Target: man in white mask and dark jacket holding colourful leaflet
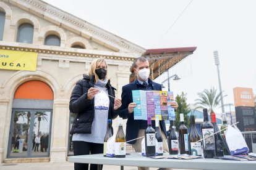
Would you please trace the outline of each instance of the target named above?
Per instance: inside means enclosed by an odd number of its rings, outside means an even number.
[[[121,118],[128,119],[126,123],[126,141],[144,136],[145,129],[147,128],[146,120],[134,119],[134,107],[136,107],[136,103],[133,103],[132,101],[132,91],[161,91],[161,84],[154,83],[153,81],[151,81],[151,79],[149,79],[150,67],[147,59],[145,59],[144,57],[138,57],[137,59],[135,59],[134,72],[137,79],[135,79],[134,82],[122,87],[122,106],[120,107],[119,112],[119,116]],[[171,106],[176,109],[177,102],[172,102]],[[155,128],[155,121],[152,121],[152,126]],[[160,127],[163,137],[164,152],[169,152],[164,121],[160,121]],[[128,142],[128,144],[132,144],[135,152],[141,152],[141,142],[142,138],[132,140]],[[142,170],[149,168],[138,167],[138,169]]]

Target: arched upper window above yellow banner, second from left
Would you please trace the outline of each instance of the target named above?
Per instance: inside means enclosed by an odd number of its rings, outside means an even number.
[[[18,28],[17,42],[33,43],[34,26],[29,23],[23,23]]]

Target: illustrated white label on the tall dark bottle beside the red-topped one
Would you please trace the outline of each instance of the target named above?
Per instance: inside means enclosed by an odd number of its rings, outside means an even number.
[[[205,150],[215,150],[214,135],[212,135],[212,134],[214,134],[213,128],[202,129],[203,149],[205,149]]]

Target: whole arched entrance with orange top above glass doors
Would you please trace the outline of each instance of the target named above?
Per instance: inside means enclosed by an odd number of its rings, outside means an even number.
[[[42,81],[27,81],[18,87],[12,102],[7,158],[49,157],[53,99],[51,87]]]

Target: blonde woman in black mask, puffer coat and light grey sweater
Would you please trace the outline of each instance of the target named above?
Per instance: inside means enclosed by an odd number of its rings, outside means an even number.
[[[114,98],[116,89],[106,77],[107,68],[105,59],[93,60],[89,75],[83,75],[70,97],[69,110],[77,113],[70,131],[74,155],[103,153],[107,120],[116,118],[122,105],[121,99]],[[97,169],[97,166],[90,164],[90,170]],[[74,167],[75,170],[85,170],[88,164],[75,163]]]

